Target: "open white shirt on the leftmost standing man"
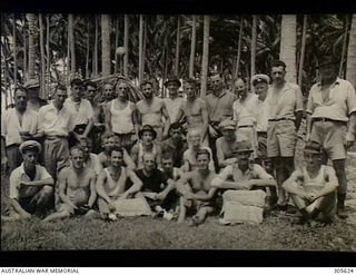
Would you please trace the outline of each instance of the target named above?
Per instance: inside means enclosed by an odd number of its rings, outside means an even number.
[[[29,131],[31,135],[38,131],[38,114],[37,111],[26,109],[22,115],[22,125],[20,125],[16,108],[6,110],[1,115],[1,136],[4,137],[6,146],[19,145],[23,140],[20,131]]]

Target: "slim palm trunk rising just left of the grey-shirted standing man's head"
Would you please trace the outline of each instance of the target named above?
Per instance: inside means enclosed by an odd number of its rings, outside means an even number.
[[[202,97],[202,98],[207,95],[207,88],[208,88],[209,28],[210,28],[210,17],[209,16],[204,16],[202,60],[201,60],[201,90],[200,90],[200,97]]]

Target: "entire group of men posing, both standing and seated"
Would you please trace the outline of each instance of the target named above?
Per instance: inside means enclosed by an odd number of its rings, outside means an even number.
[[[198,97],[198,84],[165,82],[168,98],[158,98],[144,80],[144,99],[128,100],[129,85],[103,86],[73,79],[57,85],[52,100],[38,97],[29,80],[14,89],[14,107],[2,114],[1,164],[10,170],[10,206],[4,220],[44,220],[72,215],[115,220],[119,200],[139,198],[154,216],[201,224],[217,213],[225,189],[263,189],[266,208],[287,210],[293,203],[303,222],[330,222],[336,210],[346,218],[346,150],[355,141],[356,92],[337,77],[336,62],[323,57],[320,80],[306,108],[306,167],[295,169],[297,131],[304,116],[300,87],[285,80],[286,65],[267,75],[234,81],[224,88],[210,76],[210,92]],[[116,95],[116,96],[115,96]],[[326,166],[327,160],[333,167]],[[55,207],[55,212],[51,208]],[[48,215],[49,214],[49,215]]]

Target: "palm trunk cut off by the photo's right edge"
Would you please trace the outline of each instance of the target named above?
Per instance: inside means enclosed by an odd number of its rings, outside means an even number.
[[[353,14],[347,49],[346,79],[356,87],[356,14]]]

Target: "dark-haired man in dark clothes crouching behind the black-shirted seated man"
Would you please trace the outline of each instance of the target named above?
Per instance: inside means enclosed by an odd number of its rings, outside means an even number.
[[[182,155],[188,149],[187,141],[184,140],[181,126],[174,122],[169,127],[169,138],[162,141],[162,154],[169,151],[172,154],[174,167],[182,166]]]

